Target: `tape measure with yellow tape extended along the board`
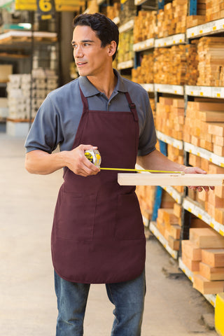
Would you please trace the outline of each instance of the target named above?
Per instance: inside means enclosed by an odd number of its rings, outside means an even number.
[[[85,151],[85,157],[92,162],[93,165],[98,167],[100,170],[113,170],[120,172],[149,172],[149,173],[174,173],[184,175],[184,172],[174,172],[167,170],[152,170],[152,169],[131,169],[131,168],[102,168],[101,165],[101,155],[97,149],[89,149]]]

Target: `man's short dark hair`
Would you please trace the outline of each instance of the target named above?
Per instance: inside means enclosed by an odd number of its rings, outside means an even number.
[[[76,28],[76,26],[92,28],[100,39],[102,47],[106,47],[111,41],[116,41],[117,48],[113,54],[113,59],[115,59],[118,50],[119,31],[118,26],[111,19],[101,13],[80,14],[73,19],[73,27]]]

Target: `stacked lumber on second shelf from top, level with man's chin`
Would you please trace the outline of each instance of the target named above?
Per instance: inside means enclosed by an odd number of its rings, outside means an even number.
[[[197,44],[173,45],[154,50],[154,82],[171,85],[196,85]]]

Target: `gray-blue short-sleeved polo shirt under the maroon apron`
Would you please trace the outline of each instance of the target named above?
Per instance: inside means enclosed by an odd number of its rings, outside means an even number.
[[[116,70],[114,72],[118,82],[110,99],[99,92],[86,77],[81,76],[50,92],[38,109],[27,136],[25,143],[27,152],[40,149],[52,153],[57,145],[60,151],[71,150],[83,113],[79,85],[87,97],[90,110],[111,111],[111,113],[130,111],[124,93],[129,92],[139,116],[139,155],[154,151],[157,140],[148,93],[141,85],[121,77]],[[97,146],[97,144],[91,145]]]

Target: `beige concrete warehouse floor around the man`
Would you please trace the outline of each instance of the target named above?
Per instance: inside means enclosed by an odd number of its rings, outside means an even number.
[[[0,133],[0,335],[53,336],[50,231],[62,172],[28,174],[24,140]],[[146,278],[142,336],[217,335],[208,328],[214,308],[155,237],[147,241]],[[91,286],[85,336],[109,336],[112,311],[104,285]]]

